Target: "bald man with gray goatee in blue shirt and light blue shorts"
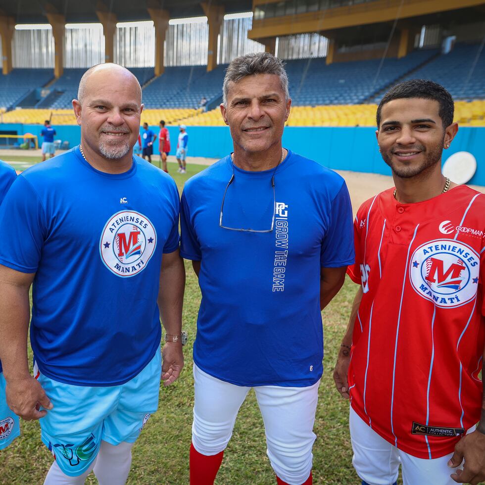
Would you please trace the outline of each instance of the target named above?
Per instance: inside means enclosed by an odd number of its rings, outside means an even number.
[[[19,175],[0,207],[0,237],[14,226],[0,247],[6,397],[40,419],[55,455],[46,485],[84,483],[93,469],[101,484],[124,484],[160,374],[169,385],[184,365],[179,196],[169,175],[133,157],[141,102],[124,67],[89,69],[73,101],[81,144]]]

